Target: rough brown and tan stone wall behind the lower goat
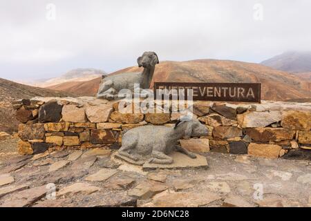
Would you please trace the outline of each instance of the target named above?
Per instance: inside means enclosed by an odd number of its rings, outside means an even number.
[[[180,113],[122,114],[118,102],[94,97],[35,97],[15,101],[13,106],[22,123],[20,154],[100,146],[117,149],[122,133],[130,128],[173,126],[180,117]],[[194,117],[207,126],[209,135],[180,140],[190,151],[276,158],[292,149],[311,148],[310,103],[194,102],[193,111]]]

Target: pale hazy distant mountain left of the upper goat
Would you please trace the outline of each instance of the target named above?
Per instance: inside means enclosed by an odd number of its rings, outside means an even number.
[[[103,70],[98,70],[95,68],[77,68],[77,69],[68,71],[64,75],[61,75],[60,77],[54,77],[50,79],[39,79],[39,80],[28,82],[28,83],[20,81],[20,83],[30,84],[31,86],[38,86],[41,88],[48,88],[50,86],[54,86],[54,85],[62,84],[66,82],[90,81],[91,79],[102,77],[102,75],[106,75],[106,73]]]

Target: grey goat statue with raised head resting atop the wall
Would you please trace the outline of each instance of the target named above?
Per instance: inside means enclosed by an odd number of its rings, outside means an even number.
[[[156,64],[159,64],[158,55],[155,52],[144,52],[137,59],[138,67],[144,67],[142,73],[120,73],[104,77],[100,82],[97,98],[117,99],[122,89],[134,91],[134,84],[140,84],[140,88],[149,89]]]

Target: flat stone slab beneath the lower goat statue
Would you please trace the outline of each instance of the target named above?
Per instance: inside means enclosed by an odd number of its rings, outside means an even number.
[[[145,162],[142,165],[144,171],[153,171],[156,169],[207,169],[208,164],[206,157],[196,154],[196,159],[192,159],[187,155],[179,152],[173,152],[173,164],[150,164]]]

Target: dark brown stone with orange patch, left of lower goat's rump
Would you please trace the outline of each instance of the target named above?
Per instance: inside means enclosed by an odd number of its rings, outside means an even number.
[[[113,131],[93,129],[90,141],[92,144],[113,144],[117,142],[117,137]]]

